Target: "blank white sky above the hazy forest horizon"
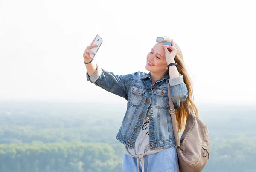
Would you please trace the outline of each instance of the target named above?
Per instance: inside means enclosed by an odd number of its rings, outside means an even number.
[[[255,103],[253,1],[0,0],[0,99],[125,101],[86,79],[83,52],[116,75],[145,69],[158,36],[180,46],[195,102]]]

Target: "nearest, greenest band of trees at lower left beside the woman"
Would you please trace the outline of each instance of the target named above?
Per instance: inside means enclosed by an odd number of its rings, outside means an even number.
[[[120,172],[121,145],[40,143],[0,145],[0,172]]]

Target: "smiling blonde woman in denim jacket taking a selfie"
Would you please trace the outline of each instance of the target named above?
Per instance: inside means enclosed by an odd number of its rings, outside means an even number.
[[[99,68],[89,55],[94,54],[90,49],[96,47],[92,44],[83,54],[87,80],[127,100],[116,136],[125,145],[122,172],[179,172],[168,84],[179,132],[187,116],[183,102],[197,112],[180,48],[169,37],[157,37],[156,41],[146,58],[148,74],[139,71],[115,75]]]

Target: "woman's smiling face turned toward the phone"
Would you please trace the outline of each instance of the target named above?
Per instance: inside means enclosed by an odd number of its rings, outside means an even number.
[[[151,73],[162,75],[168,70],[163,43],[156,43],[147,55],[146,69]]]

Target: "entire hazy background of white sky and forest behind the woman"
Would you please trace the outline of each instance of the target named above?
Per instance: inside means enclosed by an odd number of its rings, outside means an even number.
[[[87,81],[82,55],[96,34],[103,43],[95,61],[116,75],[148,72],[155,39],[173,38],[209,127],[205,171],[254,171],[255,6],[0,0],[0,172],[120,171],[124,147],[115,136],[126,100]]]

